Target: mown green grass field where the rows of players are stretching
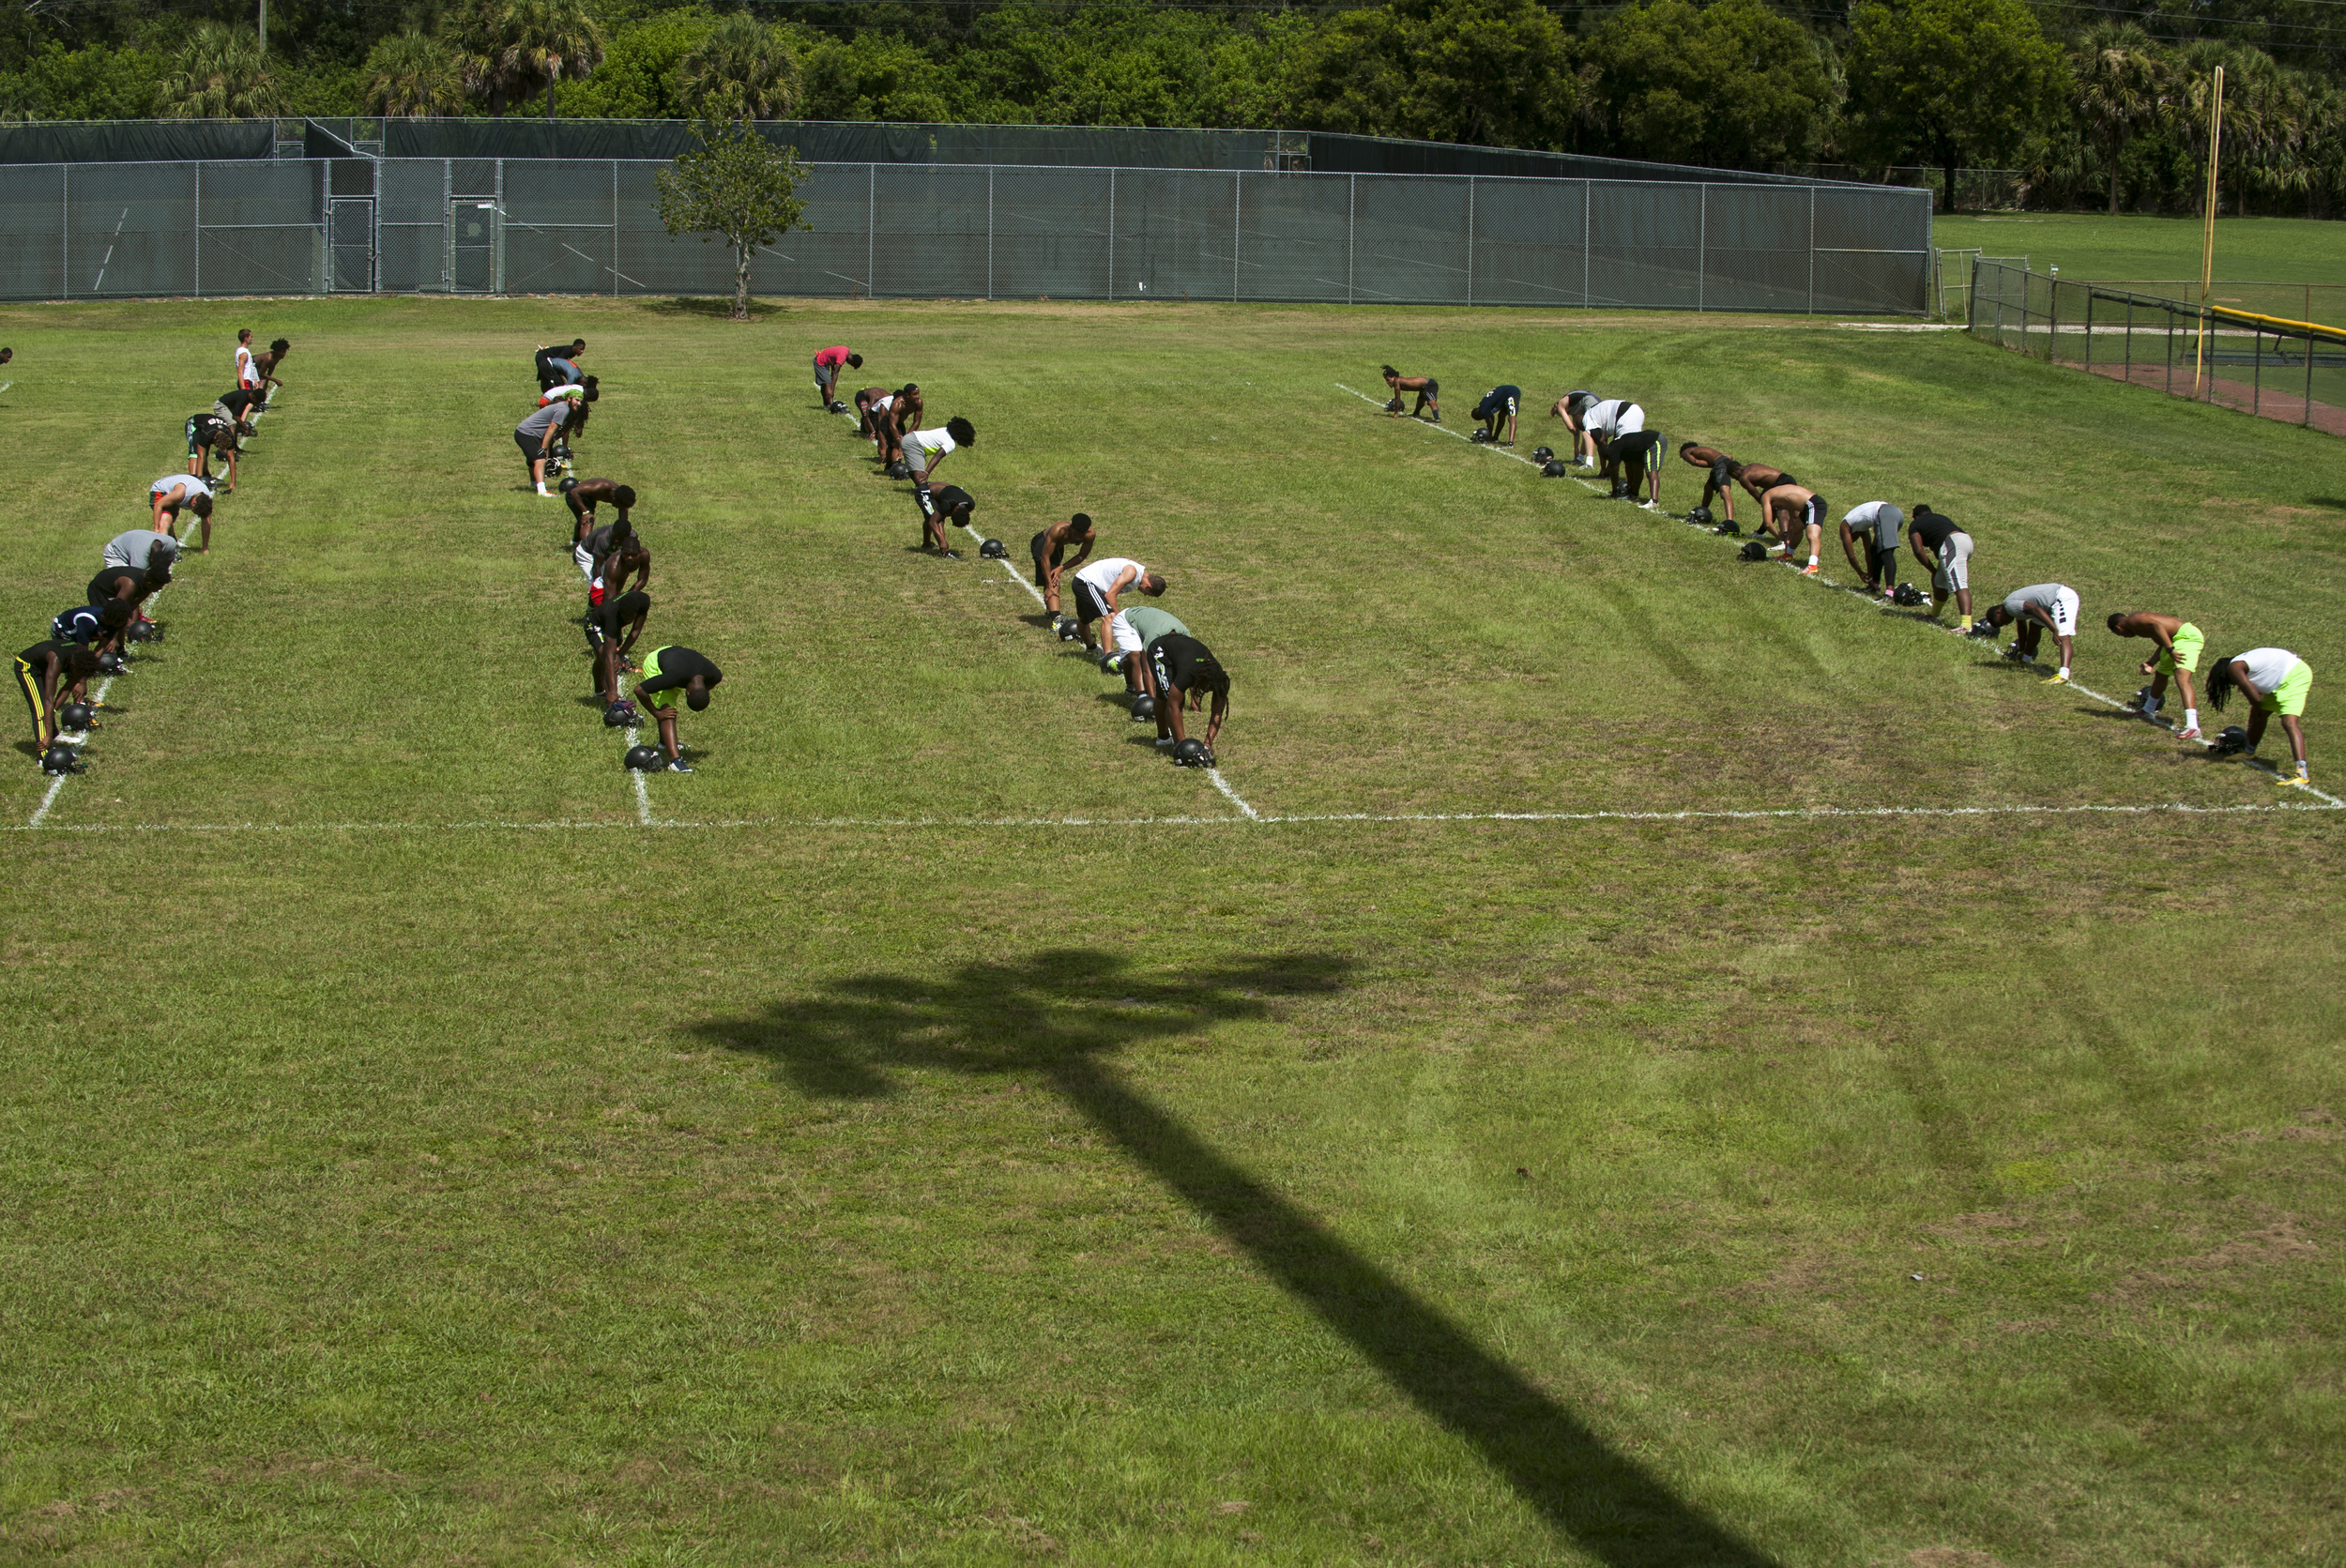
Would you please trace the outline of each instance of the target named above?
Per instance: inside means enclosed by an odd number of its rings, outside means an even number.
[[[2111,608],[2290,646],[2323,786],[2327,437],[1741,317],[14,307],[21,641],[239,324],[291,392],[5,840],[0,1556],[2346,1561],[2346,815],[1342,385],[1931,500],[2093,692]],[[727,676],[643,807],[507,437],[572,331]],[[842,340],[1173,580],[1234,798],[910,549]]]

